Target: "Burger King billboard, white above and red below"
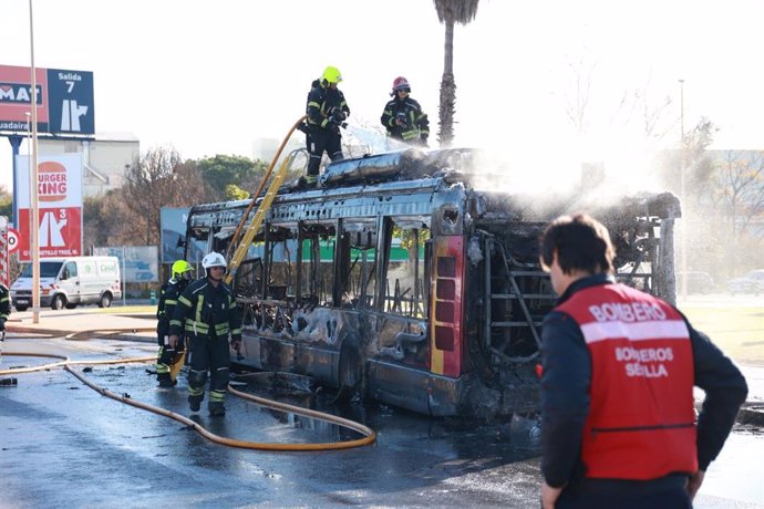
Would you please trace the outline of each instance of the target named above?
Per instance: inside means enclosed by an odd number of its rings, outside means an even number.
[[[28,156],[17,156],[19,261],[31,261]],[[82,156],[65,154],[38,159],[38,228],[40,257],[82,254]]]

